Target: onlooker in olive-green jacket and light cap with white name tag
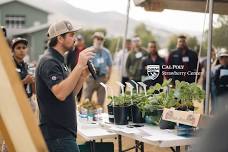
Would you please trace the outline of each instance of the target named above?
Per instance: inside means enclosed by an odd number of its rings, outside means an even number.
[[[135,36],[132,39],[132,52],[128,55],[126,61],[126,70],[130,80],[141,81],[141,63],[142,58],[148,55],[148,52],[141,47],[141,39]],[[131,82],[131,81],[130,81]],[[134,83],[132,83],[135,86]]]

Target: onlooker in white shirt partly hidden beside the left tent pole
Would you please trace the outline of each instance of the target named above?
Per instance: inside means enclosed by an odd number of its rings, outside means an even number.
[[[120,50],[116,56],[117,67],[118,67],[118,70],[121,72],[121,83],[124,85],[126,82],[129,81],[127,70],[126,70],[126,61],[131,50],[132,50],[131,39],[127,39],[125,41],[125,48]],[[125,90],[126,90],[126,87],[124,87],[124,91]]]

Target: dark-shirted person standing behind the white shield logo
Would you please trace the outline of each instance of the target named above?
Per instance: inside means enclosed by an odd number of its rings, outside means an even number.
[[[150,41],[147,49],[149,55],[142,61],[141,75],[142,82],[149,88],[156,83],[163,83],[162,66],[165,64],[165,60],[158,54],[156,41]]]

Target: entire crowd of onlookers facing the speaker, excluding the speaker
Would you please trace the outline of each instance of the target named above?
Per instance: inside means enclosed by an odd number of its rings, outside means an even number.
[[[6,29],[2,27],[2,30],[5,37],[7,37]],[[206,58],[202,60],[198,58],[197,52],[188,47],[187,37],[184,35],[180,35],[177,38],[176,48],[170,50],[168,58],[159,55],[156,41],[149,41],[147,48],[144,48],[141,46],[140,37],[134,36],[132,39],[126,39],[124,49],[114,55],[114,61],[112,61],[110,51],[104,47],[104,33],[95,32],[92,40],[92,46],[86,46],[83,35],[77,34],[73,48],[64,54],[64,63],[70,71],[73,71],[78,63],[81,51],[88,47],[95,50],[95,57],[91,61],[96,69],[98,79],[94,80],[92,76],[88,77],[86,85],[77,94],[78,101],[81,100],[82,95],[84,99],[92,100],[94,92],[97,92],[97,102],[102,106],[104,105],[105,90],[100,85],[100,82],[107,83],[109,81],[113,64],[117,66],[121,75],[120,81],[124,85],[126,85],[126,82],[130,82],[135,87],[133,82],[143,82],[148,89],[156,83],[162,84],[164,79],[171,78],[173,84],[175,84],[176,80],[189,83],[198,83],[200,80],[202,88],[206,90],[207,60]],[[16,37],[11,42],[8,40],[8,42],[12,49],[16,70],[20,74],[28,98],[31,100],[32,94],[35,93],[35,75],[29,73],[28,63],[24,61],[28,52],[28,41],[24,38]],[[212,113],[217,107],[215,103],[218,103],[216,102],[218,96],[221,96],[223,92],[227,93],[228,90],[226,88],[228,84],[227,56],[228,53],[225,48],[218,50],[212,48],[211,50],[212,71],[210,86],[212,90]],[[124,91],[125,89],[126,87]]]

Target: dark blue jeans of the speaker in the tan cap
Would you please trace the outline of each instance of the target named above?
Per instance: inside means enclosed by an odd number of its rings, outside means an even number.
[[[49,152],[80,152],[74,137],[46,141]]]

